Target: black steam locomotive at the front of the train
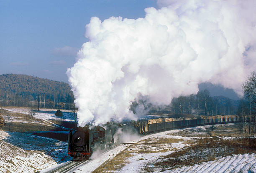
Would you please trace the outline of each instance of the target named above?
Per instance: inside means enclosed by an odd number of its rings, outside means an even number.
[[[105,150],[114,143],[114,133],[118,126],[107,125],[107,129],[96,126],[78,127],[68,135],[68,154],[73,160],[87,160],[93,150]]]

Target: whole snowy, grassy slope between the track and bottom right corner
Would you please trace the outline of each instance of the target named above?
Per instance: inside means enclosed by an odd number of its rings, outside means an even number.
[[[255,172],[256,138],[239,124],[189,127],[141,137],[98,172]],[[239,164],[238,164],[239,163]]]

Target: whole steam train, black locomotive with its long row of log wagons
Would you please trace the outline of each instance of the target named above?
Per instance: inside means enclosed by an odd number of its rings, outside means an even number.
[[[224,123],[239,122],[237,115],[226,116],[201,116],[195,119],[180,120],[163,119],[163,122],[139,121],[137,125],[123,125],[108,123],[105,128],[96,126],[78,127],[77,130],[71,130],[68,135],[68,154],[73,160],[87,160],[93,153],[93,150],[105,150],[113,145],[114,135],[118,129],[128,132],[133,129],[138,134],[146,135],[148,133],[160,132],[165,130],[180,129],[185,127],[195,127],[201,125],[215,125]]]

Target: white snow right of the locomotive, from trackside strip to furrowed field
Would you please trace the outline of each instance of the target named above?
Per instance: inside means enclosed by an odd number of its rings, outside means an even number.
[[[225,125],[217,125],[225,126]],[[140,137],[136,145],[119,145],[118,148],[113,148],[100,155],[99,157],[93,158],[88,163],[82,165],[79,168],[71,170],[72,172],[82,173],[82,172],[92,172],[98,166],[102,166],[106,160],[115,159],[115,155],[120,152],[130,152],[131,157],[128,157],[128,163],[123,166],[120,170],[111,170],[120,173],[138,173],[143,172],[148,164],[155,162],[158,158],[164,155],[168,155],[176,150],[183,148],[186,145],[190,145],[189,141],[193,140],[195,137],[178,136],[180,132],[188,133],[190,135],[200,135],[205,133],[207,128],[210,126],[200,126],[200,127],[190,127],[179,130],[170,130],[165,132],[159,132],[156,134],[146,135]],[[170,139],[179,142],[173,142],[170,144],[157,144],[159,140]],[[148,143],[156,145],[147,145]],[[145,144],[145,145],[144,145]],[[125,150],[127,149],[127,150]],[[125,151],[124,151],[125,150]],[[148,151],[148,152],[147,152]],[[108,161],[107,161],[108,162]],[[108,167],[108,163],[105,163],[105,167]],[[156,170],[156,172],[162,171],[161,169]],[[184,166],[179,169],[166,170],[165,172],[200,172],[200,173],[211,173],[211,172],[256,172],[256,158],[254,154],[243,154],[243,155],[232,155],[227,157],[220,157],[214,161],[209,161],[205,163],[196,164],[193,166]]]

